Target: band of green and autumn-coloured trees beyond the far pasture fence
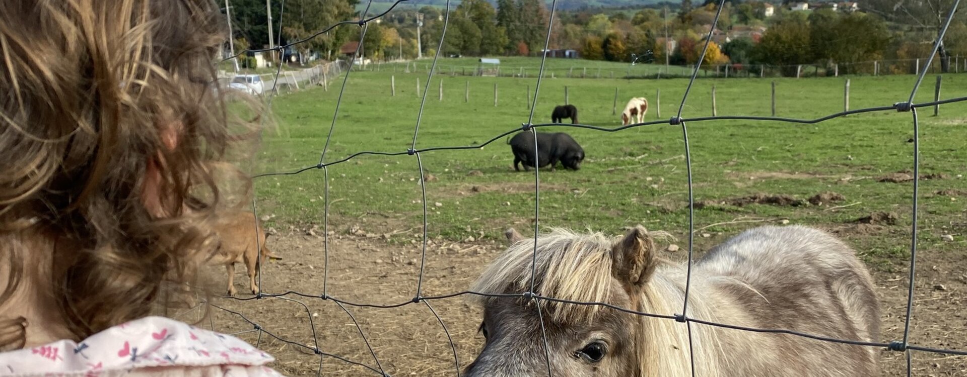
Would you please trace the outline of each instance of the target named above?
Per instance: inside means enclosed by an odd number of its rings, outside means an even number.
[[[282,24],[278,38],[283,43],[359,16],[358,0],[288,0],[284,12],[280,0],[272,1],[273,12],[278,10],[273,19]],[[268,40],[265,2],[230,3],[236,48],[264,46]],[[846,7],[834,10],[835,3],[820,4],[823,8],[817,10],[790,11],[788,6],[759,1],[727,1],[702,62],[698,62],[702,46],[719,12],[715,1],[693,5],[684,0],[650,9],[558,11],[548,41],[551,49],[575,50],[584,59],[630,62],[635,54],[657,63],[737,68],[923,58],[929,55],[952,0],[937,0],[929,8],[921,3],[897,6],[872,0],[856,12],[842,9]],[[767,12],[770,5],[772,14]],[[439,47],[444,56],[538,56],[549,15],[542,0],[464,0],[449,18],[440,7],[401,7],[368,25],[362,53],[373,59],[412,59],[431,56]],[[961,13],[955,16],[942,58],[967,53],[967,25]],[[446,38],[440,46],[445,22]],[[321,59],[335,60],[344,43],[358,39],[358,28],[339,27],[296,49],[304,56],[317,53]],[[850,69],[861,67],[841,69],[851,73]]]

